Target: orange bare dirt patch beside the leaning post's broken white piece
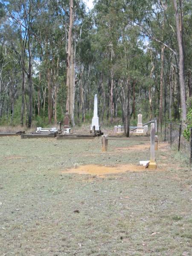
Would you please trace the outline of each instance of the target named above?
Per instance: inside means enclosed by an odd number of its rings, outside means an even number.
[[[98,177],[105,177],[108,174],[118,174],[123,172],[143,172],[143,166],[136,165],[118,165],[118,166],[100,166],[100,165],[84,165],[77,168],[66,169],[62,173],[77,173],[80,175],[96,175]]]

